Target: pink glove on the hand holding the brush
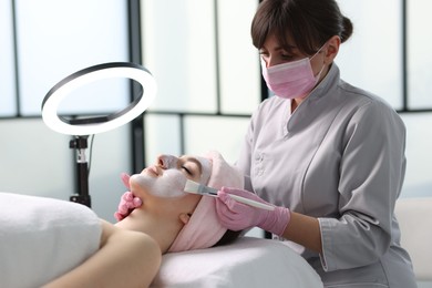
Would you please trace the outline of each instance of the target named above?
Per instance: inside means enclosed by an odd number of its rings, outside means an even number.
[[[243,189],[222,187],[222,189],[217,193],[219,197],[216,200],[216,212],[222,225],[224,225],[227,229],[243,230],[251,227],[259,227],[278,236],[284,234],[285,228],[291,218],[291,213],[288,208],[275,206],[274,210],[265,210],[236,202],[229,197],[228,194],[238,195],[274,206],[259,198],[254,193]]]

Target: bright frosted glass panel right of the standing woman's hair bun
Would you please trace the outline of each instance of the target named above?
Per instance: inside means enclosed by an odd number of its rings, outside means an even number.
[[[354,32],[340,47],[341,78],[402,107],[401,0],[339,0]]]

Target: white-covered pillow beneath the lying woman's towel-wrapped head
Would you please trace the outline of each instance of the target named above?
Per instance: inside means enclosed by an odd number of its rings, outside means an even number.
[[[163,256],[151,287],[322,287],[318,274],[277,240],[244,237],[235,244]]]

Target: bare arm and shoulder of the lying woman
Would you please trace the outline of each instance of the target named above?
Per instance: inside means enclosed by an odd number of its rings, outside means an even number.
[[[148,287],[161,265],[161,249],[150,236],[102,220],[101,248],[54,287]]]

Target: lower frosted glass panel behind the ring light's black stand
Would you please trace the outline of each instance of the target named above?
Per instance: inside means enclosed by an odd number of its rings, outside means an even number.
[[[0,133],[1,192],[64,200],[76,193],[75,160],[69,148],[69,136],[51,131],[41,119],[2,120]],[[120,174],[130,173],[131,167],[128,138],[130,127],[124,125],[97,134],[92,148],[89,177],[92,209],[113,223],[119,199],[126,191]]]

